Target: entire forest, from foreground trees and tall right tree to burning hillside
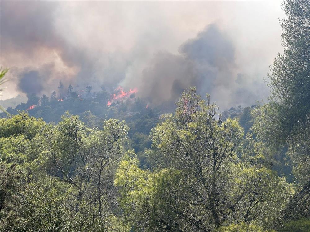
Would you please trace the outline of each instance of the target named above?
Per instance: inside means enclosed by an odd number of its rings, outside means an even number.
[[[60,80],[2,109],[0,231],[310,231],[310,3],[282,8],[267,103],[189,87],[171,110]]]

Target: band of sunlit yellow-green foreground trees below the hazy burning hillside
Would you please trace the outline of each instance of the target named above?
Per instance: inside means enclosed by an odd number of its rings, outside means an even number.
[[[251,134],[245,137],[237,119],[221,117],[195,88],[184,91],[175,114],[162,115],[151,131],[149,169],[141,168],[134,150],[128,150],[124,121],[109,119],[102,128],[91,129],[69,114],[55,126],[27,113],[0,119],[0,228],[309,228],[304,219],[308,198],[288,210],[309,178],[303,175],[309,166],[294,166],[298,184],[288,183],[272,170],[271,148]]]

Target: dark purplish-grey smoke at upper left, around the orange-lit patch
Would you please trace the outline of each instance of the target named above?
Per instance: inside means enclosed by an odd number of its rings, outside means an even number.
[[[124,74],[113,69],[113,62],[110,63],[110,70],[99,73],[102,69],[98,64],[98,57],[103,54],[86,54],[83,49],[71,45],[58,34],[55,28],[55,12],[59,10],[58,7],[59,5],[52,1],[1,1],[0,47],[3,56],[19,53],[27,58],[34,58],[38,53],[47,57],[56,53],[66,67],[75,67],[78,70],[74,76],[68,76],[56,69],[55,61],[36,67],[36,70],[29,66],[25,69],[33,71],[20,69],[20,73],[15,77],[16,87],[26,94],[50,93],[57,89],[59,79],[65,85],[93,85],[95,89],[99,89],[102,84],[115,86],[124,78]],[[112,78],[106,78],[104,82],[104,74]]]

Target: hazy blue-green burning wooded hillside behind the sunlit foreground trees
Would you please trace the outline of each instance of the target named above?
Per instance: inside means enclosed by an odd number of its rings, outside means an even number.
[[[170,107],[164,104],[149,106],[147,101],[136,97],[135,94],[111,101],[113,92],[108,92],[104,87],[99,92],[92,92],[91,86],[87,86],[85,90],[75,90],[72,85],[65,88],[60,81],[58,90],[58,93],[52,92],[50,97],[46,95],[38,97],[32,94],[26,103],[20,103],[14,109],[7,107],[6,110],[11,115],[25,111],[30,116],[42,118],[51,125],[56,125],[66,112],[78,115],[89,128],[101,128],[104,121],[109,118],[125,120],[130,127],[128,148],[134,149],[138,154],[142,167],[149,167],[144,153],[145,149],[151,147],[149,133],[158,122],[160,115],[171,112]],[[112,102],[110,105],[108,105],[109,101]],[[223,112],[223,118],[240,118],[240,125],[247,132],[252,125],[250,112],[254,107],[255,105],[246,108],[231,107]],[[3,112],[1,117],[7,118],[7,114]],[[279,173],[281,172],[279,168]]]

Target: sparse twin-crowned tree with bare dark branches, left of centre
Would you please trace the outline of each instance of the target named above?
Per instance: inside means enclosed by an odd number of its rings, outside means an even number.
[[[113,177],[127,131],[126,124],[115,119],[104,122],[103,130],[92,130],[78,116],[65,115],[55,128],[44,132],[46,170],[72,187],[75,210],[80,211],[83,202],[91,202],[88,204],[95,207],[100,220],[113,217],[117,210]]]

